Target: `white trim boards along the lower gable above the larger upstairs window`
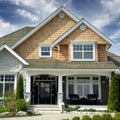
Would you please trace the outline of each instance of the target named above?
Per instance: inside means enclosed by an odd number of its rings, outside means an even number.
[[[78,28],[81,24],[85,24],[87,27],[89,27],[91,30],[93,30],[97,35],[99,35],[101,38],[103,38],[106,42],[109,44],[114,44],[114,42],[106,37],[103,33],[101,33],[97,28],[95,28],[92,24],[90,24],[87,20],[82,18],[78,23],[76,23],[73,27],[71,27],[66,33],[61,35],[57,40],[55,40],[51,46],[55,46],[59,42],[61,42],[65,37],[67,37],[70,33],[72,33],[76,28]]]

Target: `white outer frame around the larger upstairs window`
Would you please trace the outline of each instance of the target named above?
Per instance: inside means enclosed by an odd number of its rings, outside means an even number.
[[[71,61],[95,61],[95,42],[71,42]],[[74,59],[73,58],[73,45],[93,45],[93,59]],[[83,52],[83,51],[82,51]]]

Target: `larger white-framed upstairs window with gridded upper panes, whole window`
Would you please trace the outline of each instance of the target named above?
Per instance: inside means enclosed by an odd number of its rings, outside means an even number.
[[[72,43],[72,60],[73,61],[94,61],[95,60],[95,43]]]

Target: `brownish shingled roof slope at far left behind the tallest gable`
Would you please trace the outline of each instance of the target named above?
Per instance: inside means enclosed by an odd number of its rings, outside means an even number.
[[[2,38],[0,38],[0,46],[6,44],[7,46],[11,47],[14,45],[18,40],[28,34],[34,27],[24,27],[15,32],[12,32]]]

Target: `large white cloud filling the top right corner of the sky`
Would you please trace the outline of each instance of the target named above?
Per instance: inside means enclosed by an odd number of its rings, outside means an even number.
[[[120,0],[101,0],[101,5],[101,12],[92,21],[99,29],[110,25],[120,17]]]

